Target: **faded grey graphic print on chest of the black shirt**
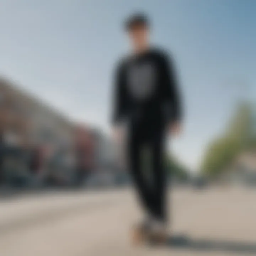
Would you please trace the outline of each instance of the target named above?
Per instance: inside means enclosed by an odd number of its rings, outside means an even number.
[[[131,64],[128,68],[128,90],[139,100],[149,98],[155,89],[156,70],[151,63]]]

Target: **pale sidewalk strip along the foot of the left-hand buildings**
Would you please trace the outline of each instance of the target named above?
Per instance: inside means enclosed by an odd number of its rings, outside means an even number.
[[[81,209],[118,203],[118,190],[106,191],[44,191],[0,201],[1,233],[20,226],[56,218]]]

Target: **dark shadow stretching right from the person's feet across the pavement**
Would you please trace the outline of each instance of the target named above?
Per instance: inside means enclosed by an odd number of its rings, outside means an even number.
[[[256,242],[233,242],[218,240],[192,240],[186,236],[175,236],[169,239],[168,246],[172,249],[190,250],[198,252],[229,252],[240,255],[256,255]]]

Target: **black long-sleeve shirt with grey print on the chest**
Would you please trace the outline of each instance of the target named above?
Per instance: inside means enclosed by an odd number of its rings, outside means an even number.
[[[171,58],[161,50],[128,57],[118,65],[114,79],[114,124],[165,123],[181,119],[178,82]]]

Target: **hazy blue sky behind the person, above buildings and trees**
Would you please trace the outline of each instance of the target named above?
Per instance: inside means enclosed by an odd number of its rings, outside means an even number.
[[[108,130],[113,65],[129,50],[122,21],[133,11],[152,18],[153,43],[175,57],[185,121],[170,145],[196,169],[235,100],[256,95],[254,0],[0,0],[0,73]]]

